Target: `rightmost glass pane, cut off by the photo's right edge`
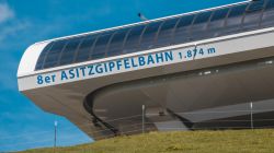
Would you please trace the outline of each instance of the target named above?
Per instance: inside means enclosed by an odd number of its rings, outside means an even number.
[[[269,27],[274,25],[274,0],[270,0],[262,17],[262,26]]]

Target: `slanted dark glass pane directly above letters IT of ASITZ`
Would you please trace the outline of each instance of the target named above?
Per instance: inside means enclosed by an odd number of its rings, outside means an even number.
[[[81,62],[81,61],[87,61],[89,60],[89,56],[90,56],[90,50],[95,42],[98,35],[90,35],[87,36],[82,43],[80,44],[80,47],[77,51],[77,56],[76,56],[76,62]]]

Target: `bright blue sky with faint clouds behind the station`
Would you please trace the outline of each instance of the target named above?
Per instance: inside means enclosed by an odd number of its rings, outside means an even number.
[[[92,142],[66,118],[18,92],[16,70],[35,42],[206,9],[239,0],[0,0],[0,152]]]

